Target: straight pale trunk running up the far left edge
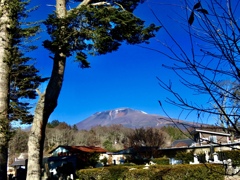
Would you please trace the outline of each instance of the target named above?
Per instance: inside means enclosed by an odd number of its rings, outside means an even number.
[[[8,0],[1,0],[0,5],[0,180],[7,179],[8,159],[8,103],[9,103],[9,63],[7,47],[9,46]]]

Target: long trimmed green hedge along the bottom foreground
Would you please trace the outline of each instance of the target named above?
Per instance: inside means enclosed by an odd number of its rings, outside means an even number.
[[[80,180],[223,180],[222,165],[153,165],[145,166],[110,166],[95,169],[83,169],[77,172]]]

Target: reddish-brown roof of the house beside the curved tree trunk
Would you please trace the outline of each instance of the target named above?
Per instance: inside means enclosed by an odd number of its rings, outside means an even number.
[[[58,148],[66,149],[69,153],[80,153],[80,152],[87,152],[87,153],[106,153],[107,150],[101,148],[101,147],[95,147],[95,146],[58,146],[54,148],[52,151],[49,152],[49,154],[56,151]]]

